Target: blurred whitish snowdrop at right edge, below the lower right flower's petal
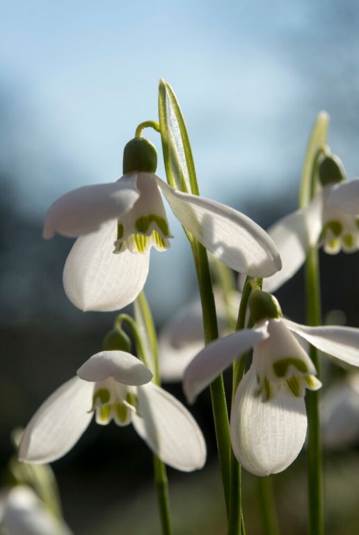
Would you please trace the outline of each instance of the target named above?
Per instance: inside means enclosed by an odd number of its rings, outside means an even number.
[[[335,382],[321,398],[321,437],[328,450],[344,450],[358,444],[358,372]]]

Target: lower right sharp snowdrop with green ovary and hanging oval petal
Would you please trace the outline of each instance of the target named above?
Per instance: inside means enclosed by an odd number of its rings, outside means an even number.
[[[219,373],[253,348],[253,362],[234,397],[230,435],[234,455],[258,476],[287,468],[301,451],[307,430],[305,389],[321,383],[298,335],[323,352],[359,366],[359,329],[308,327],[282,317],[276,299],[256,290],[250,296],[253,329],[207,345],[186,369],[184,392],[195,400]],[[294,333],[294,334],[293,334]]]

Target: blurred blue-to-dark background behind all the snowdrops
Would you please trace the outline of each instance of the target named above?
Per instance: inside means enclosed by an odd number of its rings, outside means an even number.
[[[61,273],[72,243],[42,241],[49,205],[71,188],[118,179],[136,126],[157,120],[159,77],[182,106],[202,195],[263,227],[296,208],[305,145],[320,110],[331,117],[332,150],[348,178],[357,176],[358,27],[354,0],[1,3],[2,472],[13,452],[11,430],[26,425],[101,348],[115,317],[83,314],[67,301]],[[148,137],[160,151],[159,136]],[[189,246],[169,218],[172,248],[152,252],[145,288],[159,329],[196,293]],[[324,315],[339,309],[346,324],[359,326],[358,253],[323,257],[321,266]],[[304,320],[302,285],[298,273],[278,292],[283,311],[297,321]],[[180,386],[168,388],[184,400]],[[169,470],[177,534],[189,533],[189,525],[220,534],[209,396],[191,411],[209,460],[200,473]],[[159,533],[150,460],[131,428],[92,425],[54,464],[74,533]],[[284,533],[289,526],[293,534],[305,530],[304,467],[299,458],[274,478]],[[328,454],[326,469],[328,533],[355,534],[358,446]],[[259,534],[255,479],[246,476],[245,485],[248,533]]]

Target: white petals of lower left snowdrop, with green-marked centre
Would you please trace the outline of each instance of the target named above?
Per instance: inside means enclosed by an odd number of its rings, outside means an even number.
[[[77,377],[65,382],[41,405],[27,425],[19,460],[54,461],[69,451],[93,415],[106,425],[133,423],[138,435],[166,464],[184,472],[201,468],[206,448],[193,417],[159,386],[135,356],[104,351],[88,359]]]

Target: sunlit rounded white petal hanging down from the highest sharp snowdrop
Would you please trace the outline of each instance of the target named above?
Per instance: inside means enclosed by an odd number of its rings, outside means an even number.
[[[75,241],[63,269],[63,286],[70,301],[83,311],[120,310],[143,289],[150,262],[149,253],[128,250],[113,254],[117,221]]]

